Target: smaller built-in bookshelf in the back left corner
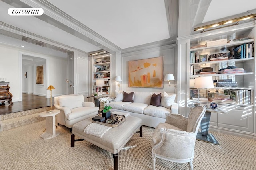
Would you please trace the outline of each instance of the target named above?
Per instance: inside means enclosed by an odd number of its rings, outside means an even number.
[[[104,86],[102,88],[102,95],[110,96],[110,54],[98,55],[92,58],[92,73],[93,73],[93,93],[100,91],[96,86],[97,79],[104,80]]]

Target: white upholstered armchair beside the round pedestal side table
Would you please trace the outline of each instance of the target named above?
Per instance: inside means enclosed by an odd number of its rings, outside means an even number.
[[[57,123],[70,128],[70,131],[75,123],[95,116],[99,110],[93,102],[84,102],[82,94],[54,97],[54,106],[55,109],[60,110],[57,114]]]

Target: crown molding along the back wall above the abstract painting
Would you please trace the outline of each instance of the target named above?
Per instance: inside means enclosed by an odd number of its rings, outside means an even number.
[[[126,49],[122,49],[122,55],[126,54],[126,53],[131,53],[131,52],[136,52],[136,51],[143,51],[143,50],[147,50],[147,49],[151,49],[151,48],[155,48],[155,47],[162,47],[164,45],[174,45],[176,44],[176,39],[177,37],[172,37],[169,39],[164,39],[164,40],[160,40],[160,41],[156,41],[156,42],[152,42],[152,43],[147,43],[147,44],[143,44],[143,45],[138,45],[135,47],[129,47]]]

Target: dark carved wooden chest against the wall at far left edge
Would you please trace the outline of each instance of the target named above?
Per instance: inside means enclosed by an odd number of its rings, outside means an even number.
[[[0,82],[0,105],[5,105],[5,101],[8,101],[9,104],[13,104],[12,94],[9,92],[9,89],[9,82]]]

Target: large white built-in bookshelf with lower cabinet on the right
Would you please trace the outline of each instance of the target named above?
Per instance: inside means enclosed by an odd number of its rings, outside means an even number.
[[[188,103],[216,102],[226,114],[212,113],[212,129],[249,136],[255,133],[255,23],[190,36]],[[212,43],[209,43],[212,42]],[[198,76],[212,76],[213,89],[193,87]],[[199,95],[199,96],[198,96]],[[253,137],[252,137],[253,138]]]

